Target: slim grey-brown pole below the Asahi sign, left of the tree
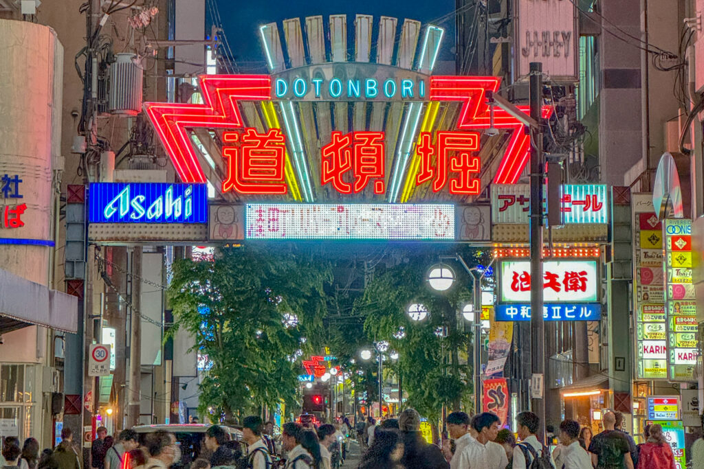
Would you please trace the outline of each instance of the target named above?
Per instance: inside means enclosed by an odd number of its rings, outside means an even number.
[[[142,246],[132,248],[132,307],[130,315],[130,396],[127,405],[127,426],[139,425],[139,403],[142,401]]]

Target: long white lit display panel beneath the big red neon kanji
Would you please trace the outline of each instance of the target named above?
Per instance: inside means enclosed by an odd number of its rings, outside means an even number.
[[[451,204],[247,204],[245,238],[455,239]]]

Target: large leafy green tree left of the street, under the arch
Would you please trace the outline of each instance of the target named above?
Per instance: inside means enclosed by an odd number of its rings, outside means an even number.
[[[329,266],[306,250],[270,248],[222,249],[212,262],[172,268],[171,333],[187,330],[212,361],[199,411],[216,420],[295,405],[301,356],[321,345]]]

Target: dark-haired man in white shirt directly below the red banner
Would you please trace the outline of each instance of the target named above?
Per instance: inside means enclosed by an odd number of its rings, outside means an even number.
[[[503,447],[494,443],[501,420],[491,412],[480,413],[472,419],[477,438],[469,436],[467,445],[461,452],[455,452],[452,462],[461,469],[505,469],[508,458]]]

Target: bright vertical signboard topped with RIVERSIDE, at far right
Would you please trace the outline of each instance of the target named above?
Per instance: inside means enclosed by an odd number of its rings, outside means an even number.
[[[692,221],[667,219],[665,233],[665,314],[667,316],[667,378],[696,381],[699,356],[697,304],[692,283]]]

